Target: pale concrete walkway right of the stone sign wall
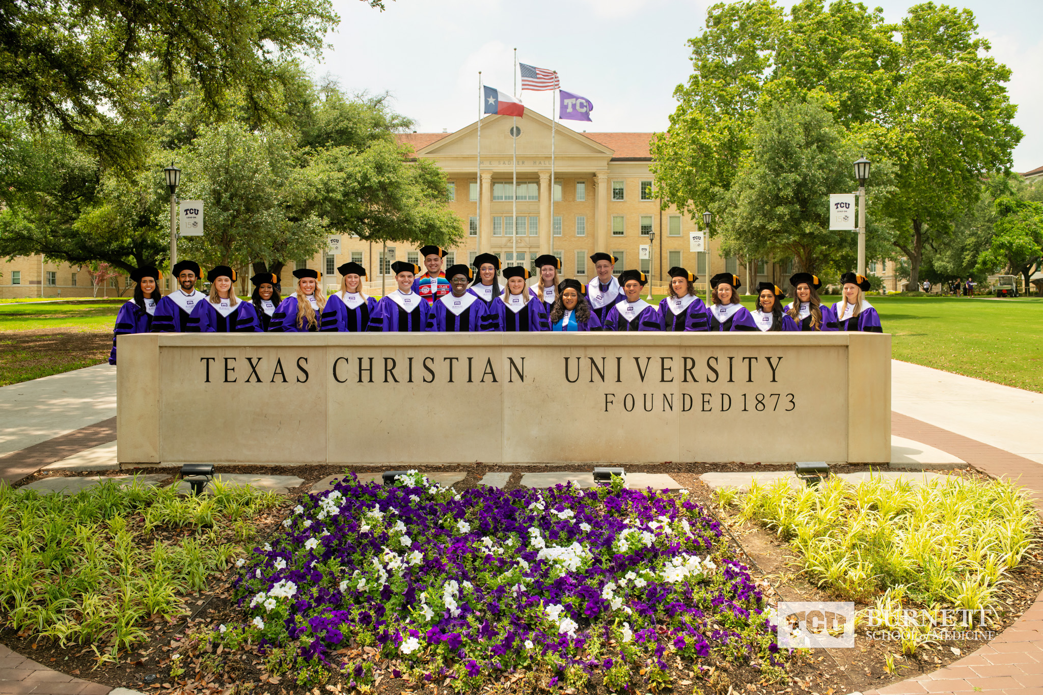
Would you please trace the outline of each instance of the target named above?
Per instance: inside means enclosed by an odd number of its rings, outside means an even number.
[[[891,409],[1043,464],[1043,394],[892,359]]]

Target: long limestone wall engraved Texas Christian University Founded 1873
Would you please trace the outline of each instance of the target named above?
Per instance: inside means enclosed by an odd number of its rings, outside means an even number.
[[[888,334],[118,340],[121,464],[891,458]]]

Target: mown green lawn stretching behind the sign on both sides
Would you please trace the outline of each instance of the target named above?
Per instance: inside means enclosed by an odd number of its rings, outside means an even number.
[[[656,296],[658,303],[661,297]],[[831,304],[839,297],[823,297]],[[6,359],[0,348],[0,383],[22,381],[41,374],[27,369],[26,362],[39,358],[44,350],[54,357],[55,345],[39,341],[49,332],[107,332],[120,304],[125,299],[108,301],[75,300],[68,303],[0,306],[0,331],[33,331],[33,347],[17,339],[17,333],[6,333],[0,341],[6,345]],[[935,367],[979,379],[1005,383],[1018,389],[1043,393],[1043,299],[988,299],[984,297],[938,296],[871,296],[884,331],[894,336],[893,355],[897,359]],[[743,298],[752,308],[752,296]],[[71,346],[70,346],[71,347]],[[26,350],[29,350],[26,353]],[[87,364],[98,364],[100,345],[92,346],[92,355],[69,350],[67,356],[49,365],[49,373],[76,369]],[[19,356],[16,358],[16,354]],[[49,361],[48,361],[49,362]],[[6,364],[3,364],[6,363]],[[53,370],[53,371],[52,371]]]

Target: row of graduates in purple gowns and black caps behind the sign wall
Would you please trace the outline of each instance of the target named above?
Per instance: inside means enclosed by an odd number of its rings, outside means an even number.
[[[845,273],[844,296],[832,306],[823,305],[819,278],[797,273],[790,278],[796,300],[782,306],[784,293],[772,282],[757,287],[757,308],[739,303],[742,282],[731,273],[710,278],[711,305],[696,295],[699,278],[684,268],[669,271],[670,295],[659,304],[641,299],[648,283],[637,270],[613,274],[615,257],[595,253],[590,260],[598,276],[583,284],[560,279],[560,262],[554,255],[536,258],[539,277],[530,287],[529,271],[522,266],[503,269],[507,287],[500,287],[500,259],[478,255],[471,266],[457,264],[444,272],[446,251],[438,246],[420,249],[427,272],[412,263],[393,263],[397,288],[377,301],[363,292],[366,269],[346,263],[337,271],[341,289],[329,297],[321,291],[321,274],[311,269],[293,271],[296,291],[280,299],[278,277],[261,273],[250,278],[249,301],[233,292],[236,271],[217,266],[207,273],[210,294],[195,289],[199,265],[181,260],[173,268],[177,288],[161,297],[160,272],[139,268],[130,274],[137,282],[134,299],[116,318],[115,336],[136,332],[229,331],[581,331],[581,330],[865,330],[880,331],[880,319],[865,292],[869,280]],[[108,359],[116,364],[116,338]]]

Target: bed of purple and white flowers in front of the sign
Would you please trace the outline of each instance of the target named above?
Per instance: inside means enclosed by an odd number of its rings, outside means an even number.
[[[214,636],[260,641],[300,685],[340,671],[469,689],[524,671],[533,685],[657,689],[680,656],[782,674],[773,612],[718,523],[692,501],[611,488],[456,494],[420,474],[396,486],[345,478],[313,496],[245,564],[244,623]],[[278,663],[275,663],[278,662]]]

